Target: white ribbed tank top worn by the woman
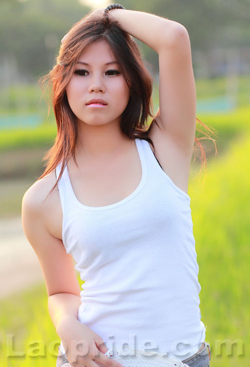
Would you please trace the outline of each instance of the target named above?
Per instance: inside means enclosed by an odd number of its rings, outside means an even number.
[[[135,143],[142,177],[126,198],[101,207],[80,203],[67,167],[58,183],[62,241],[85,281],[78,320],[107,348],[127,343],[182,361],[205,340],[190,197],[146,140]],[[60,349],[65,354],[62,343]]]

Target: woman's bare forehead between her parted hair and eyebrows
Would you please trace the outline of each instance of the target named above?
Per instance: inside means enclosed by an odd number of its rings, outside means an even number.
[[[104,64],[114,60],[114,55],[105,40],[91,42],[79,55],[78,61],[91,64]]]

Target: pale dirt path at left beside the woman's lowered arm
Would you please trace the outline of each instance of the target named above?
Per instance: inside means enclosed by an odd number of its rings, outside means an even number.
[[[21,217],[0,219],[0,299],[44,281],[37,256],[27,241]]]

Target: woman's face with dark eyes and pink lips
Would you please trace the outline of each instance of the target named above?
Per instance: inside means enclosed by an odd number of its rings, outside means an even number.
[[[118,65],[111,63],[113,61],[104,40],[93,41],[80,54],[66,87],[69,106],[79,122],[103,125],[117,118],[120,120],[129,100],[129,88]],[[105,65],[108,62],[110,64]],[[87,105],[92,98],[102,99],[106,105]]]

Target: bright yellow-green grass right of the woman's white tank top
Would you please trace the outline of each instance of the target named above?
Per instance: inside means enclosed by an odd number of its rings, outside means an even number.
[[[234,350],[234,357],[223,357],[222,349],[222,357],[214,358],[212,352],[212,367],[243,367],[250,362],[250,287],[246,282],[250,261],[249,153],[248,132],[233,141],[223,158],[209,163],[203,188],[190,185],[189,190],[206,339],[213,349],[216,340],[239,339],[245,353],[236,358]]]

